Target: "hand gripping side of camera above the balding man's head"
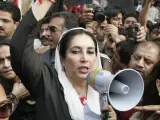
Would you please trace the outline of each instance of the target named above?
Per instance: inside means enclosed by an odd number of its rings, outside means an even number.
[[[144,26],[140,27],[140,31],[137,32],[137,42],[146,41],[146,32]]]

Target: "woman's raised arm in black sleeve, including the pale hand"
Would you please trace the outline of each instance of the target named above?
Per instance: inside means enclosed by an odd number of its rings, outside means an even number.
[[[43,0],[42,4],[37,0],[23,17],[11,39],[12,68],[29,91],[39,83],[43,71],[47,69],[33,48],[34,41],[28,39],[29,34],[51,5],[49,0]]]

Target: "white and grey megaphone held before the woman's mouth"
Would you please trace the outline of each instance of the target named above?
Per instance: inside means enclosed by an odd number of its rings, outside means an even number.
[[[86,80],[99,92],[101,108],[109,101],[114,109],[128,111],[139,103],[144,92],[143,79],[133,69],[124,69],[115,75],[96,69],[87,75]]]

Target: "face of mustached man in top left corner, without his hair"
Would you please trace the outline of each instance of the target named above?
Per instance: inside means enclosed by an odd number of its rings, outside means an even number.
[[[18,22],[15,23],[9,12],[0,10],[0,38],[11,38]]]

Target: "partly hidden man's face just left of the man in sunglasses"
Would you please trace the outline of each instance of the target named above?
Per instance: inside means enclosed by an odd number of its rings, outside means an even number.
[[[41,29],[40,29],[40,40],[44,46],[50,45],[50,42],[48,41],[47,36],[47,31],[48,31],[48,24],[42,24]]]

